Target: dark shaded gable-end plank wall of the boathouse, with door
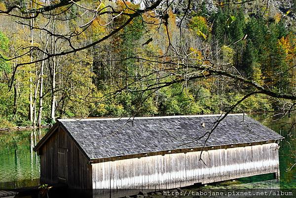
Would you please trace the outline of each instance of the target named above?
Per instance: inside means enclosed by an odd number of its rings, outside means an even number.
[[[92,167],[88,159],[61,128],[42,146],[40,154],[41,183],[65,182],[70,188],[92,188]]]

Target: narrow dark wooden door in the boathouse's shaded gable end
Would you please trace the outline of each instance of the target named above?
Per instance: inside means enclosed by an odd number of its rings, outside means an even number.
[[[68,149],[58,148],[58,180],[66,183],[68,179]]]

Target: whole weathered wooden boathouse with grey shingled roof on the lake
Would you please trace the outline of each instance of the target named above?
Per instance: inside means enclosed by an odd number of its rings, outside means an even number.
[[[283,137],[242,114],[225,117],[201,154],[206,136],[192,140],[219,116],[59,119],[34,148],[41,183],[158,190],[279,173]]]

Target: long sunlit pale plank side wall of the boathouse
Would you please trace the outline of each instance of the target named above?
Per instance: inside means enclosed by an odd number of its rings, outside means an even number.
[[[92,164],[94,189],[172,189],[279,171],[278,145],[102,161]]]

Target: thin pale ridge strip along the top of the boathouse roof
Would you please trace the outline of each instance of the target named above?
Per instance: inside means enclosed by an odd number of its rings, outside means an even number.
[[[124,117],[124,118],[86,118],[86,119],[58,119],[58,121],[96,121],[96,120],[120,120],[120,119],[171,119],[171,118],[200,118],[218,117],[225,114],[205,114],[205,115],[184,115],[184,116],[155,116],[155,117]],[[242,116],[244,114],[228,114],[227,116]],[[245,114],[247,115],[247,114]]]

